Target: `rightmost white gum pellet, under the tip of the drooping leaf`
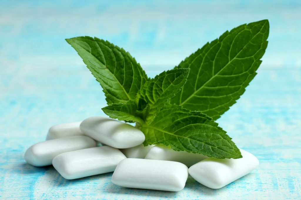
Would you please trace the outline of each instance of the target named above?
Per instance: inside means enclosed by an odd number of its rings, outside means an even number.
[[[199,183],[212,189],[219,189],[250,173],[259,165],[258,159],[240,149],[242,158],[207,158],[189,168],[189,174]]]

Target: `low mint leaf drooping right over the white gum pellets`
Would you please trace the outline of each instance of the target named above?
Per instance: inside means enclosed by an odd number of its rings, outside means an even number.
[[[231,138],[212,118],[178,105],[165,105],[151,124],[141,124],[144,145],[162,144],[214,158],[241,158]]]

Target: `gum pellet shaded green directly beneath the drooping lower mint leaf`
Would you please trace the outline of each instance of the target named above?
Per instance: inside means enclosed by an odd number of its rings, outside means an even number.
[[[189,153],[187,151],[175,151],[164,145],[154,146],[145,156],[145,159],[170,160],[183,163],[188,167],[206,158],[208,157],[201,154]]]

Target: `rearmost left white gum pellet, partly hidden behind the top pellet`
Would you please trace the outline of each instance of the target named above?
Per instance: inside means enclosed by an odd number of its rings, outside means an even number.
[[[49,128],[46,140],[65,138],[71,136],[83,136],[84,133],[79,129],[81,121],[58,124]]]

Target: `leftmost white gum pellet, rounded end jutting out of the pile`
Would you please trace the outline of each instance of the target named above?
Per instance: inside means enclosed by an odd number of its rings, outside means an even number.
[[[96,142],[87,136],[46,140],[29,147],[24,159],[33,166],[47,166],[51,165],[52,159],[59,154],[91,147],[96,147]]]

